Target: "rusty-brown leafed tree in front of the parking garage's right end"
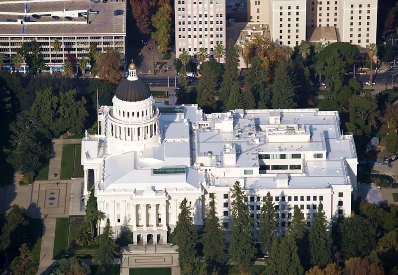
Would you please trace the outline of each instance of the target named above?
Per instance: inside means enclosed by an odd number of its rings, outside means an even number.
[[[94,71],[101,80],[105,80],[111,84],[119,84],[123,79],[120,65],[121,60],[117,51],[108,48],[105,54],[97,54]]]

